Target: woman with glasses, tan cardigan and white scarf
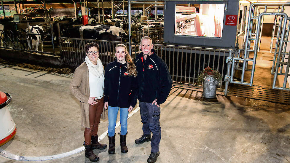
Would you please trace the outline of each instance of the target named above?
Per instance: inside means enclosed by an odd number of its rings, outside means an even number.
[[[86,44],[85,50],[85,62],[75,70],[70,90],[81,105],[81,124],[85,127],[85,156],[96,162],[99,157],[94,154],[93,149],[107,148],[106,144],[98,142],[98,124],[104,106],[104,67],[98,58],[97,43]]]

